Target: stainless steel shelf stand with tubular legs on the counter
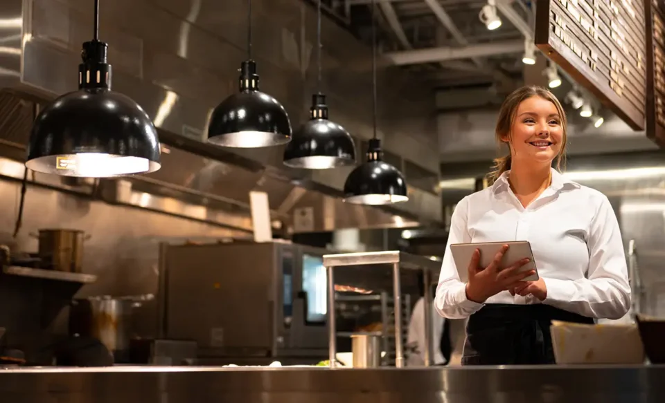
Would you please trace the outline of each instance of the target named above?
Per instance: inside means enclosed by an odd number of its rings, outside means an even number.
[[[422,270],[424,283],[425,301],[431,301],[432,296],[429,285],[432,283],[432,274],[439,272],[441,262],[434,261],[425,256],[418,256],[391,250],[385,252],[358,252],[344,254],[323,255],[323,266],[328,270],[328,359],[330,366],[335,366],[337,356],[337,329],[335,328],[335,274],[333,270],[339,266],[359,265],[385,265],[393,267],[393,303],[395,306],[395,366],[404,366],[404,346],[402,345],[402,286],[400,283],[400,271]],[[425,303],[425,366],[429,366],[432,353],[432,304]]]

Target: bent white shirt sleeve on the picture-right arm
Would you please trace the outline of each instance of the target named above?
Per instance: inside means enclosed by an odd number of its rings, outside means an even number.
[[[543,277],[547,287],[543,303],[586,317],[619,319],[630,308],[628,268],[617,216],[610,200],[601,197],[589,227],[587,278],[569,281]]]

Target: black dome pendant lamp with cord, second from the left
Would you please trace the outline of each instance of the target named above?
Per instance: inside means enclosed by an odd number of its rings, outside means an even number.
[[[208,142],[222,147],[270,147],[291,140],[284,106],[258,91],[256,62],[251,59],[251,0],[248,3],[247,60],[240,66],[240,92],[215,108],[208,125]]]

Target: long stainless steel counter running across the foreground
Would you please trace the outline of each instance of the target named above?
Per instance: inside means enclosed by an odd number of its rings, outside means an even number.
[[[665,366],[114,367],[0,371],[12,403],[664,402]]]

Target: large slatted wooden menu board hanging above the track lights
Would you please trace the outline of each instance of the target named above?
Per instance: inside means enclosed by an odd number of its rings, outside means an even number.
[[[542,0],[535,20],[536,46],[635,130],[645,128],[644,12],[644,0]]]

